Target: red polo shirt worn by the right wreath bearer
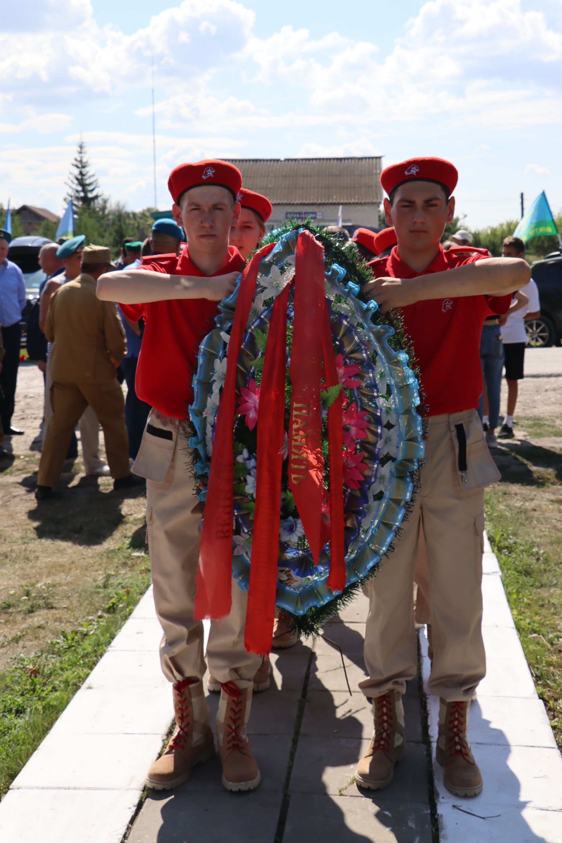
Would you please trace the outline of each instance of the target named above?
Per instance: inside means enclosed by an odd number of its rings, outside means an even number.
[[[372,260],[369,267],[376,278],[417,278],[484,258],[485,255],[454,254],[440,246],[430,266],[423,272],[415,272],[399,259],[394,246],[388,257]],[[400,309],[420,367],[425,416],[478,406],[482,395],[479,354],[482,325],[486,316],[505,314],[510,303],[511,293],[425,299]]]

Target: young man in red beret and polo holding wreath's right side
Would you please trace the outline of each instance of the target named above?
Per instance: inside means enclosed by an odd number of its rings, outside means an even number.
[[[404,757],[406,682],[417,670],[412,583],[420,519],[426,537],[433,663],[428,687],[441,700],[437,760],[445,786],[476,796],[482,776],[467,739],[468,707],[485,674],[482,620],[484,486],[500,475],[476,412],[482,392],[479,339],[484,318],[503,314],[527,283],[523,260],[444,252],[454,214],[457,170],[440,158],[413,158],[383,171],[384,212],[397,245],[369,265],[364,287],[385,313],[399,308],[420,366],[429,416],[421,491],[396,552],[369,586],[365,635],[375,733],[356,781],[377,790]]]

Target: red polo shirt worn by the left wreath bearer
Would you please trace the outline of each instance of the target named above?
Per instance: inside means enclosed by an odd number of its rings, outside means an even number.
[[[214,275],[244,270],[238,249],[228,247],[230,260]],[[205,273],[190,261],[187,248],[179,257],[158,255],[145,259],[142,269],[168,275]],[[199,344],[215,325],[218,302],[208,298],[173,298],[163,302],[120,304],[128,319],[144,318],[144,336],[136,367],[136,395],[164,416],[186,418],[193,402],[191,383],[197,371]]]

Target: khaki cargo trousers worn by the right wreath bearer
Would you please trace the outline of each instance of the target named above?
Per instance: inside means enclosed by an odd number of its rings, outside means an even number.
[[[466,483],[458,470],[458,432],[467,442]],[[427,549],[424,591],[431,615],[433,665],[428,688],[447,701],[470,700],[486,671],[482,641],[484,486],[499,480],[476,411],[432,416],[422,487],[396,551],[368,586],[363,693],[404,694],[417,672],[412,590],[420,521]]]

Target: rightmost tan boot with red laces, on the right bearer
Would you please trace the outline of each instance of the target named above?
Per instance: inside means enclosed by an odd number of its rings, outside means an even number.
[[[439,701],[437,760],[445,767],[443,783],[454,796],[478,796],[484,782],[468,744],[468,702]]]

